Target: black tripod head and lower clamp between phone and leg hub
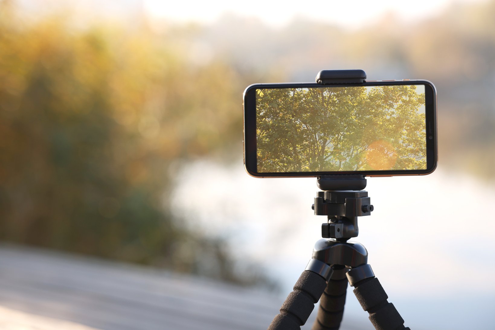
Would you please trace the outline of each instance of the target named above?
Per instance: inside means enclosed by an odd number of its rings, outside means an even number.
[[[359,234],[357,217],[371,215],[368,192],[364,191],[363,175],[331,175],[318,178],[318,191],[312,206],[315,215],[326,215],[328,222],[321,226],[323,238],[347,241]]]

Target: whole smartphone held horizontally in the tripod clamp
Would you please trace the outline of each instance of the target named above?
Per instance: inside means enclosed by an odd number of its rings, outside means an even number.
[[[253,177],[425,175],[437,166],[437,100],[425,80],[254,84],[244,91]]]

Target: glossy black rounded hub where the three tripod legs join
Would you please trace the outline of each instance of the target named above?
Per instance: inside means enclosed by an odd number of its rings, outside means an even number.
[[[358,242],[320,239],[314,245],[313,259],[327,265],[357,267],[368,263],[368,251]]]

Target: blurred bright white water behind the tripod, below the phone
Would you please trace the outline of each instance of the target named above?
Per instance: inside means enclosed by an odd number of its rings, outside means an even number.
[[[207,175],[192,176],[191,173]],[[211,161],[183,168],[173,205],[206,235],[226,237],[292,290],[321,237],[316,179],[255,179]],[[368,178],[375,210],[359,220],[369,263],[411,329],[493,329],[493,184],[439,168],[428,176]],[[194,196],[191,196],[194,191]],[[351,292],[346,319],[373,329]],[[345,322],[345,321],[344,321]]]

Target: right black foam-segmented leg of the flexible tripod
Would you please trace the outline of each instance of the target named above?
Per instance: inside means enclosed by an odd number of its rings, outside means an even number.
[[[387,301],[389,296],[382,284],[375,278],[370,265],[361,265],[347,272],[347,279],[361,307],[369,313],[369,319],[377,330],[400,330],[404,320],[394,305]]]

